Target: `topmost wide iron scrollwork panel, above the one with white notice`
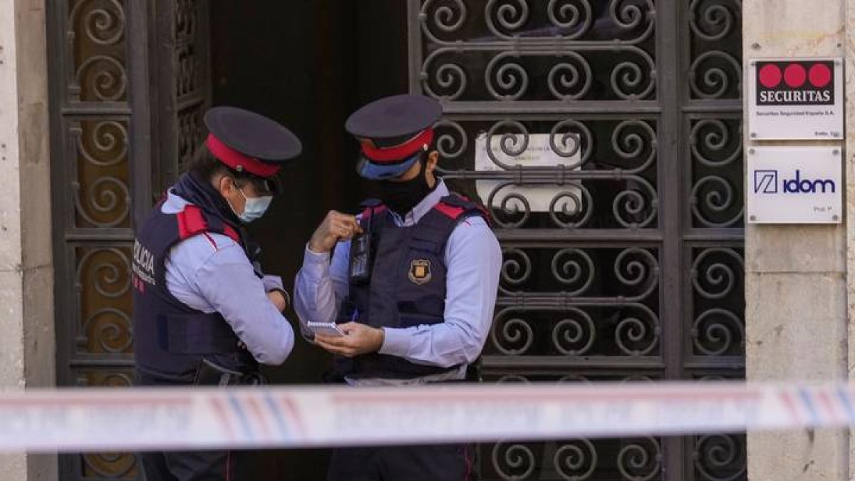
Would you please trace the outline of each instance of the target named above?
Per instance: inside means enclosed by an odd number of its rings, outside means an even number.
[[[587,0],[491,0],[483,10],[459,0],[429,0],[420,13],[422,33],[431,45],[422,62],[422,87],[446,101],[567,101],[599,97],[591,86],[604,78],[614,98],[650,98],[656,87],[649,46],[654,4],[612,0],[596,10],[595,19]],[[611,64],[604,65],[603,58]],[[532,84],[534,77],[545,79],[545,85]]]

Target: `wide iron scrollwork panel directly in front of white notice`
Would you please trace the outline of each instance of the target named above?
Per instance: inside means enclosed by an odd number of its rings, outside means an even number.
[[[531,145],[534,134],[530,126],[540,132],[548,129],[551,154],[567,158],[566,163],[551,167],[523,167],[516,163],[515,158]],[[593,129],[603,128],[610,133],[610,141],[606,143],[593,134]],[[479,194],[501,228],[528,227],[534,214],[526,194],[516,187],[550,189],[548,213],[552,225],[558,228],[591,227],[592,220],[621,228],[646,228],[657,219],[654,167],[658,146],[655,124],[651,122],[629,119],[606,123],[559,117],[543,121],[505,119],[464,123],[446,119],[436,125],[436,131],[436,145],[441,154],[439,174],[445,179],[475,181],[476,186],[478,181],[492,181],[490,191]],[[489,145],[486,156],[493,169],[476,170],[471,163],[477,155],[478,135],[484,135],[484,145]],[[593,189],[615,187],[609,205],[604,204],[602,195],[593,193]],[[595,203],[595,199],[599,202]]]

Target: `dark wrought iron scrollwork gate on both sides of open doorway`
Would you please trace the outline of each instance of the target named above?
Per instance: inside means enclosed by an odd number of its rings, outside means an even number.
[[[504,246],[486,380],[741,377],[740,0],[408,1],[411,89],[444,103],[441,168],[484,193]],[[47,5],[57,371],[127,385],[128,247],[203,132],[205,2]],[[498,170],[475,169],[476,145]],[[518,168],[528,145],[566,161]],[[746,477],[740,436],[500,442],[480,465]],[[61,472],[138,474],[130,454],[64,456]]]

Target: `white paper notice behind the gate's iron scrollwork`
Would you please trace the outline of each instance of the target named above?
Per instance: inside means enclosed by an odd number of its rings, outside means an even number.
[[[569,135],[569,137],[568,137]],[[550,144],[551,134],[529,134],[528,145],[524,151],[518,155],[510,155],[502,149],[502,142],[512,153],[516,148],[522,146],[525,137],[522,134],[495,134],[490,139],[490,151],[493,157],[500,163],[504,163],[512,168],[520,166],[522,169],[532,167],[557,167],[564,165],[569,167],[568,170],[580,169],[581,163],[581,145],[579,144],[579,136],[575,134],[555,134],[555,144],[562,153],[566,149],[567,157],[558,155]],[[503,171],[506,170],[502,165],[493,162],[490,154],[486,149],[486,134],[480,134],[475,140],[475,170],[479,171]],[[560,194],[560,199],[557,199],[553,211],[563,211],[569,214],[580,210],[581,189],[573,185],[555,185],[546,184],[545,186],[518,186],[513,183],[513,180],[507,181],[475,181],[475,188],[478,195],[486,205],[489,202],[490,195],[493,194],[492,207],[499,208],[503,205],[512,209],[525,211],[525,206],[517,196],[528,201],[528,206],[532,212],[548,212],[552,200]],[[498,190],[497,190],[498,189]],[[493,193],[493,191],[496,191]],[[513,194],[510,199],[508,196]],[[574,200],[577,199],[577,200]],[[505,202],[506,200],[506,202]]]

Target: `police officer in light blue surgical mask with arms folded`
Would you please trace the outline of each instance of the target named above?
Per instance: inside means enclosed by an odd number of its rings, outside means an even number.
[[[198,157],[139,229],[133,246],[133,334],[137,384],[251,385],[258,364],[279,365],[294,333],[281,312],[288,296],[265,276],[242,229],[277,192],[297,137],[255,113],[217,107]],[[148,481],[245,478],[239,453],[140,454]]]

